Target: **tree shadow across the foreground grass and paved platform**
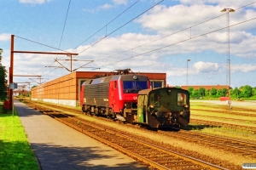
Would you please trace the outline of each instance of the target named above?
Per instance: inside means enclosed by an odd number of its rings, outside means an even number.
[[[84,141],[86,142],[86,141]],[[102,150],[97,147],[62,147],[54,144],[31,144],[27,147],[24,142],[3,142],[0,151],[0,169],[43,169],[43,170],[98,170],[98,169],[141,169],[148,167],[134,161],[129,163],[115,163],[121,158],[108,155],[110,150]],[[17,148],[22,148],[17,150]],[[33,150],[37,161],[33,158]],[[106,154],[107,153],[107,154]]]

